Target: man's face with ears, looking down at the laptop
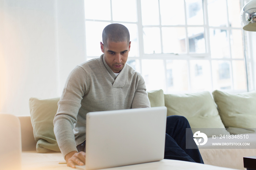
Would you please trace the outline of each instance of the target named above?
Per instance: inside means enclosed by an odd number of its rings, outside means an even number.
[[[112,42],[108,41],[107,45],[103,46],[101,42],[101,51],[104,53],[104,59],[114,73],[119,73],[128,58],[131,42]]]

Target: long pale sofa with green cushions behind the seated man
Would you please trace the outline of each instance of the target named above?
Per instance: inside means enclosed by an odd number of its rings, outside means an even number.
[[[181,166],[182,169],[245,169],[243,157],[256,155],[254,131],[256,92],[230,94],[215,90],[212,94],[206,91],[164,94],[160,89],[148,91],[148,98],[151,107],[166,106],[167,116],[184,116],[188,119],[193,133],[200,131],[207,136],[207,143],[198,146],[205,165],[162,160],[155,166],[172,169],[181,169]],[[30,115],[17,116],[21,132],[17,136],[20,136],[21,141],[22,169],[71,169],[65,164],[58,163],[64,162],[64,158],[57,145],[52,122],[59,99],[59,97],[47,99],[31,97],[29,100]],[[15,119],[14,121],[17,122]],[[3,122],[7,121],[3,119]],[[10,124],[13,126],[10,120],[8,122],[5,126]],[[234,138],[220,139],[218,135],[248,135],[248,137],[244,137],[242,141],[236,137],[238,140],[236,141]],[[196,136],[194,137],[197,139]],[[200,139],[197,141],[202,144]],[[212,142],[242,142],[250,145],[212,146]]]

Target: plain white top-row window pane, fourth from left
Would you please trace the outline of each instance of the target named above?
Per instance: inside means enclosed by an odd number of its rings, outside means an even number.
[[[160,0],[162,25],[185,25],[183,0]]]

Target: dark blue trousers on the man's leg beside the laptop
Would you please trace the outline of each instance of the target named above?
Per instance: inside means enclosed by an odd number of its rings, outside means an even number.
[[[204,163],[198,147],[193,140],[193,133],[187,130],[188,143],[197,149],[186,149],[186,128],[191,128],[184,116],[167,116],[165,134],[165,159]]]

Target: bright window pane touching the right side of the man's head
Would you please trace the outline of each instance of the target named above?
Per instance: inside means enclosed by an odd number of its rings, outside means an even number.
[[[128,28],[130,33],[130,41],[131,41],[131,50],[129,51],[130,57],[138,57],[139,56],[139,40],[138,40],[138,29],[137,24],[124,24],[125,27]]]

